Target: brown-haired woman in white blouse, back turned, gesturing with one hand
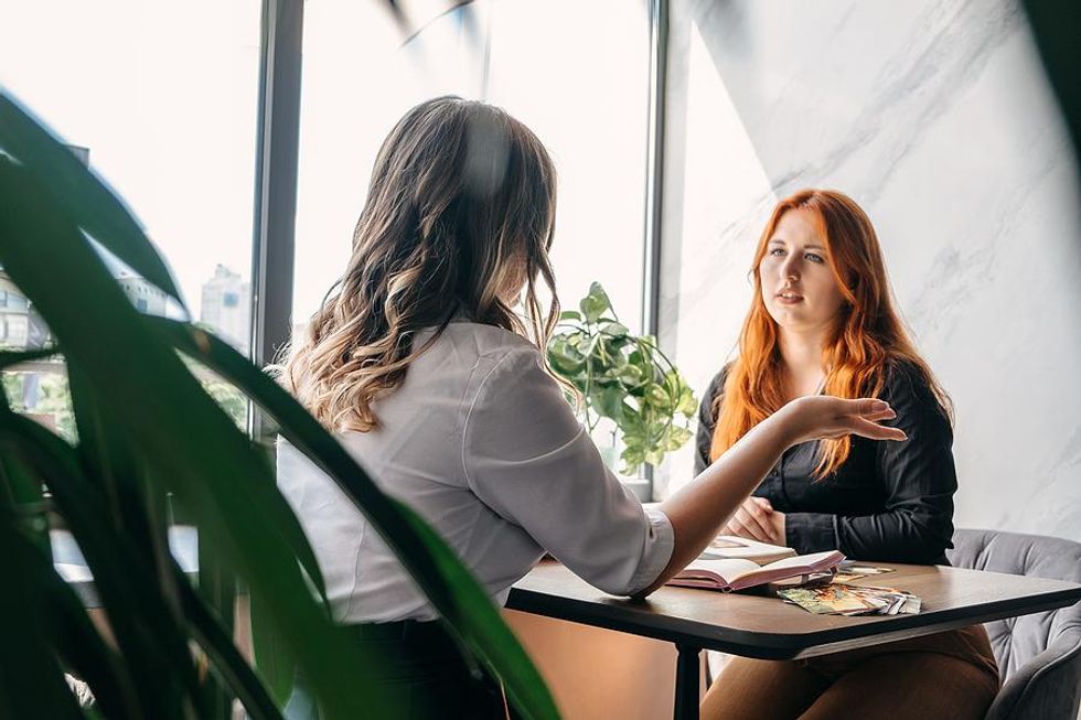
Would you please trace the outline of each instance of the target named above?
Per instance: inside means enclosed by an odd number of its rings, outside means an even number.
[[[413,108],[376,158],[343,277],[281,368],[496,603],[546,551],[601,590],[645,595],[697,557],[785,448],[850,432],[903,438],[876,423],[895,417],[880,400],[803,398],[759,422],[694,487],[644,509],[604,468],[545,361],[559,314],[555,202],[548,153],[503,110],[456,97]],[[386,658],[375,679],[402,700],[402,717],[502,714],[494,685],[471,677],[364,516],[285,442],[278,483],[335,620]]]

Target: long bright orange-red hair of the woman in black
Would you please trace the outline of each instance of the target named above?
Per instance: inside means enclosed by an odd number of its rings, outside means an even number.
[[[710,456],[717,459],[748,430],[784,405],[784,377],[777,322],[762,300],[758,268],[784,213],[809,211],[820,223],[828,264],[844,298],[832,336],[823,348],[824,391],[843,398],[877,397],[891,363],[905,362],[923,377],[942,410],[952,419],[949,396],[920,357],[898,314],[875,228],[863,208],[832,190],[802,190],[773,208],[754,251],[754,297],[739,336],[739,355],[728,367]],[[852,451],[849,437],[822,440],[815,476],[836,471]]]

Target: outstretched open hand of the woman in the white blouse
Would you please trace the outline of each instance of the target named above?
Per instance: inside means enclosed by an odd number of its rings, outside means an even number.
[[[879,425],[897,413],[885,400],[860,398],[846,400],[828,395],[802,397],[785,405],[780,413],[793,438],[793,444],[820,438],[857,434],[871,440],[908,440],[899,428]]]

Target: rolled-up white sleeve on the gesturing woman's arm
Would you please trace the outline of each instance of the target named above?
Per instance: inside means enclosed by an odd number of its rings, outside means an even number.
[[[672,524],[604,466],[538,353],[480,363],[462,432],[469,488],[590,584],[644,590],[672,557]]]

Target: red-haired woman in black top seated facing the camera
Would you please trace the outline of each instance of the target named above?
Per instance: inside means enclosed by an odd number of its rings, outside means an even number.
[[[739,355],[702,401],[696,472],[805,396],[881,398],[908,440],[790,448],[723,531],[801,554],[946,563],[957,487],[951,405],[895,309],[867,215],[842,193],[798,192],[773,209],[752,268]],[[982,718],[997,689],[987,634],[975,626],[807,660],[732,658],[702,717]]]

